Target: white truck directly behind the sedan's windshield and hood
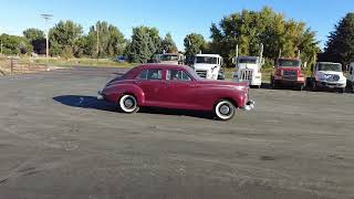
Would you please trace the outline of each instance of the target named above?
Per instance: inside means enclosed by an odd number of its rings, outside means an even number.
[[[222,63],[219,54],[196,54],[192,67],[202,78],[223,80]]]

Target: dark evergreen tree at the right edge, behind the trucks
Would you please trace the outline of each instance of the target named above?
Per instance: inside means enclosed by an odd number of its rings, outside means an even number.
[[[326,42],[326,56],[336,62],[348,64],[354,61],[354,12],[347,13],[335,25]]]

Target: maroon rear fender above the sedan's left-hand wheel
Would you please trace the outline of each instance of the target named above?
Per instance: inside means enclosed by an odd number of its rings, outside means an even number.
[[[132,94],[136,97],[138,105],[144,105],[145,103],[145,94],[143,90],[135,84],[110,85],[105,87],[102,93],[108,102],[116,103],[124,94]]]

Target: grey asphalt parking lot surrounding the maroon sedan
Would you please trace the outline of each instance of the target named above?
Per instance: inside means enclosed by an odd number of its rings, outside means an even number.
[[[251,90],[253,112],[126,115],[124,70],[0,77],[0,198],[354,198],[354,94]]]

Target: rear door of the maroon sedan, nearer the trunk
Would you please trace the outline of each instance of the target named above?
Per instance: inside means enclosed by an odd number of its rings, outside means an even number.
[[[147,69],[140,72],[135,83],[143,90],[146,106],[156,106],[160,103],[160,88],[163,80],[162,69]]]

